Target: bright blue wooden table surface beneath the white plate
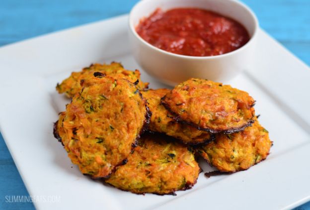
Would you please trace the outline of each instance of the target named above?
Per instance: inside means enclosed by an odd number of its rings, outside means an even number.
[[[137,1],[0,0],[0,46],[125,14]],[[243,1],[263,29],[310,65],[310,0]],[[28,192],[0,135],[0,210],[34,209],[32,203],[6,203],[5,196],[13,195]],[[310,202],[297,209],[310,210]]]

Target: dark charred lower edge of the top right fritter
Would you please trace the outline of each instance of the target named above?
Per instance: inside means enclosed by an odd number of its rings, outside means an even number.
[[[195,124],[193,122],[190,122],[188,120],[182,119],[181,116],[179,116],[177,113],[173,112],[171,110],[170,106],[164,102],[165,97],[166,96],[164,96],[164,97],[162,97],[160,99],[160,104],[162,104],[170,113],[173,114],[173,119],[176,120],[177,122],[185,123],[185,124],[191,125],[193,127],[196,127],[198,130],[208,131],[209,133],[220,133],[220,132],[222,132],[222,133],[230,134],[230,133],[235,133],[235,132],[242,131],[242,130],[244,130],[244,128],[246,128],[246,127],[248,127],[248,126],[250,126],[250,125],[252,125],[254,123],[254,119],[253,119],[254,116],[253,116],[244,125],[241,125],[240,127],[232,127],[230,129],[223,129],[223,130],[221,130],[221,129],[203,128],[203,127],[200,127],[200,126],[198,126],[197,124]]]

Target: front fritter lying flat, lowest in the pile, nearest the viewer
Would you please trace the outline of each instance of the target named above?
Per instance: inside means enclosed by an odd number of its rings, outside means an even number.
[[[137,194],[174,194],[191,188],[200,167],[188,148],[160,134],[141,137],[125,165],[116,167],[107,183]]]

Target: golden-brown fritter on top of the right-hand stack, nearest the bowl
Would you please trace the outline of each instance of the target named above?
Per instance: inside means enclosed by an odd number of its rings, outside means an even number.
[[[254,100],[244,91],[203,79],[189,79],[161,99],[176,119],[212,133],[233,133],[253,123]]]

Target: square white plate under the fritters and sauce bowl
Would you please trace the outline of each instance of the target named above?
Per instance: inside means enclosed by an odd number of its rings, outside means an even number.
[[[135,195],[80,174],[53,137],[53,122],[69,100],[55,91],[72,71],[121,61],[129,52],[127,16],[0,48],[0,128],[33,196],[60,196],[37,209],[291,209],[310,200],[310,69],[259,30],[252,68],[229,83],[257,101],[256,113],[274,141],[270,156],[247,171],[205,178],[177,196]],[[151,88],[164,87],[142,69]],[[204,171],[212,170],[203,161]]]

